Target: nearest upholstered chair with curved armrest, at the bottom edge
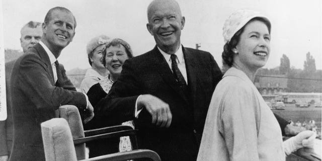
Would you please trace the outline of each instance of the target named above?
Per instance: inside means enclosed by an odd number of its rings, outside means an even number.
[[[46,161],[77,160],[73,139],[68,123],[63,118],[53,118],[41,123],[41,132],[45,150]],[[89,136],[93,138],[93,136]],[[79,138],[87,140],[89,137]],[[99,137],[97,137],[99,139]],[[121,161],[137,158],[148,158],[160,161],[156,152],[147,149],[137,149],[97,156],[84,160]]]

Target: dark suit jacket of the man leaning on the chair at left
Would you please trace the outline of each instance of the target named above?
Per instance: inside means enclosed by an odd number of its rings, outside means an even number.
[[[36,44],[15,63],[11,76],[11,107],[14,120],[10,160],[45,160],[40,123],[54,118],[61,105],[87,106],[62,69],[65,86],[55,87],[49,57]]]

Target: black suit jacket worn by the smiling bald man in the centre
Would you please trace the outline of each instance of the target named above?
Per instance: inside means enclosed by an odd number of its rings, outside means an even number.
[[[143,109],[135,120],[139,148],[155,150],[162,160],[196,160],[208,106],[222,73],[209,52],[184,48],[189,95],[175,81],[164,56],[153,50],[128,59],[109,95],[97,105],[97,113],[110,122],[134,119],[136,99],[151,94],[170,105],[173,115],[169,128],[151,124]]]

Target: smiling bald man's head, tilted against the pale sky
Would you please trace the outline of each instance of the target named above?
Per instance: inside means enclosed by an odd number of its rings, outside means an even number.
[[[174,0],[154,0],[147,8],[147,18],[146,28],[156,45],[166,53],[174,54],[181,45],[181,30],[185,26],[179,4]]]

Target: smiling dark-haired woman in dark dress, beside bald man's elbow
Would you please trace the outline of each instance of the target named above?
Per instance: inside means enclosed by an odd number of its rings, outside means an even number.
[[[106,79],[101,79],[95,85],[93,85],[87,92],[89,101],[94,107],[94,113],[96,111],[97,103],[105,98],[105,96],[111,90],[114,82],[117,81],[122,71],[122,65],[125,60],[133,57],[130,45],[122,39],[113,39],[106,43],[103,51],[104,66],[109,70],[109,74]],[[115,122],[114,122],[115,121]],[[100,113],[95,113],[94,118],[84,125],[85,130],[103,128],[113,125],[121,124],[111,118],[106,120],[105,116]],[[132,121],[122,123],[123,125],[132,126]],[[89,145],[90,157],[99,156],[107,153],[118,151],[131,150],[131,142],[129,137],[121,137],[120,139],[104,139],[92,142]]]

